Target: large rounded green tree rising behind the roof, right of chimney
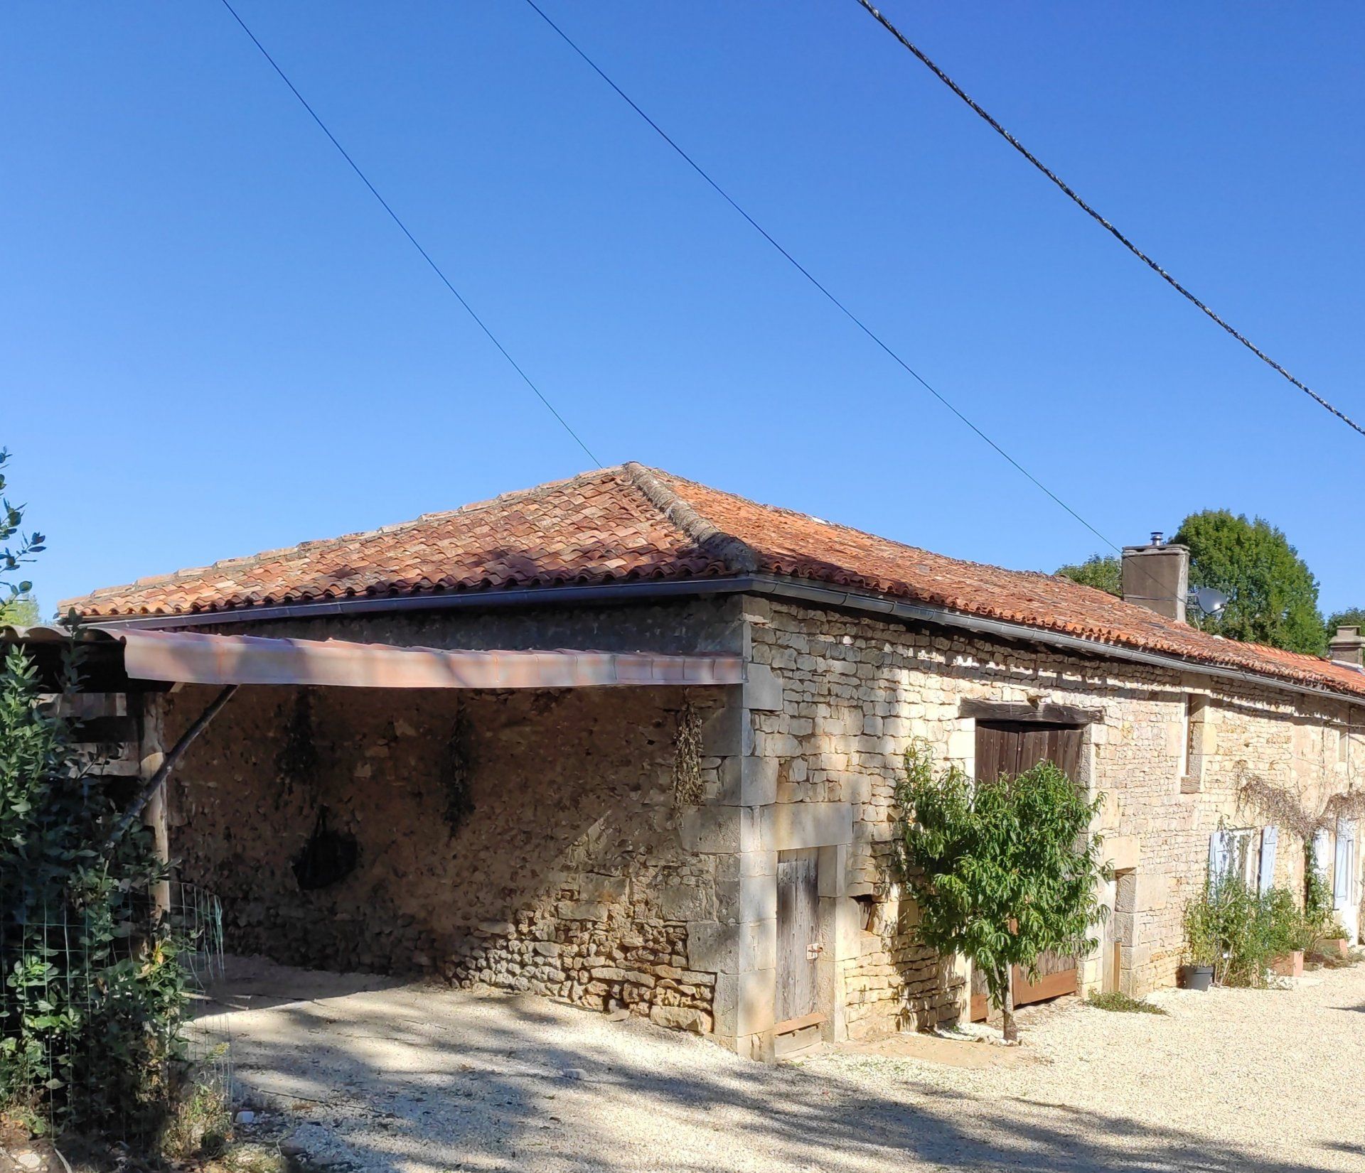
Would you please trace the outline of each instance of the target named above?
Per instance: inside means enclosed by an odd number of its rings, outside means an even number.
[[[1317,580],[1268,521],[1207,509],[1186,517],[1173,540],[1189,547],[1190,585],[1228,596],[1218,615],[1192,612],[1196,626],[1290,652],[1317,656],[1327,649]]]

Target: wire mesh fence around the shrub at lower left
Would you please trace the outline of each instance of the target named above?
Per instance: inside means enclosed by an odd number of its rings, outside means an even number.
[[[20,907],[18,902],[11,907]],[[153,884],[117,906],[27,904],[0,930],[0,1098],[35,1132],[141,1146],[175,1105],[232,1099],[218,900]]]

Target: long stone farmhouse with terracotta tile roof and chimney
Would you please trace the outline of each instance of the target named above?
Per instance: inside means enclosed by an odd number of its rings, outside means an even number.
[[[1051,757],[1104,794],[1104,941],[1021,1001],[1173,983],[1211,859],[1301,891],[1309,832],[1267,794],[1317,820],[1308,858],[1358,933],[1365,641],[1342,629],[1324,660],[1205,634],[1186,574],[1179,547],[1129,548],[1117,599],[627,464],[63,610],[130,656],[142,633],[253,663],[502,656],[505,679],[442,687],[221,668],[244,683],[153,810],[179,878],[240,952],[624,1008],[771,1058],[983,1012],[891,872],[912,738],[977,776]],[[142,694],[145,758],[213,696]]]

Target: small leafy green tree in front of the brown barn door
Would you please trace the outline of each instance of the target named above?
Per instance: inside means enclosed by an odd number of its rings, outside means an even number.
[[[935,771],[924,742],[906,752],[895,798],[898,870],[919,906],[917,938],[971,959],[1013,1042],[1013,967],[1033,978],[1041,952],[1096,947],[1096,884],[1108,867],[1089,828],[1103,799],[1087,799],[1047,761],[973,784],[960,767]]]

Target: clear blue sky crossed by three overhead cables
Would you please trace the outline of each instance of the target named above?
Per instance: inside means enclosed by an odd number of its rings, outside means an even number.
[[[854,0],[545,0],[774,236],[1114,541],[1263,514],[1365,603],[1365,439],[1126,255]],[[887,14],[1365,417],[1365,8]],[[521,0],[239,11],[605,464],[964,558],[1097,540],[805,285]],[[216,0],[0,12],[0,445],[86,589],[587,457]]]

